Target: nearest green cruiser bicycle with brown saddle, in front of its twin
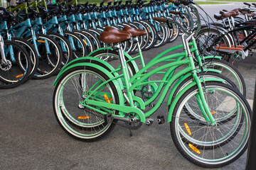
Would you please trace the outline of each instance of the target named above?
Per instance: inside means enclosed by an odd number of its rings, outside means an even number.
[[[183,157],[204,167],[234,162],[247,149],[250,106],[236,89],[223,83],[223,79],[198,76],[200,67],[193,61],[198,49],[193,35],[183,30],[183,45],[162,52],[130,77],[120,45],[129,40],[130,35],[103,32],[100,40],[114,43],[121,67],[114,69],[95,57],[67,64],[54,83],[53,108],[60,126],[72,137],[91,142],[111,132],[117,120],[124,121],[131,129],[139,128],[142,123],[150,125],[154,120],[161,124],[163,116],[151,116],[167,96],[166,122],[170,123],[174,145]],[[181,48],[183,52],[165,56]],[[186,68],[174,74],[181,65]],[[149,80],[149,77],[157,79]],[[182,88],[176,85],[186,77],[192,81]],[[137,91],[148,100],[135,95]],[[156,104],[146,111],[152,101]]]

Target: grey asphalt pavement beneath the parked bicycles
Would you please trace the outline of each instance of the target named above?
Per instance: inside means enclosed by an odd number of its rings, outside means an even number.
[[[144,52],[146,62],[172,45]],[[252,100],[256,55],[236,66]],[[143,125],[133,137],[116,126],[109,136],[92,143],[69,137],[53,114],[54,80],[31,80],[16,89],[0,90],[0,169],[202,169],[179,154],[169,124]],[[159,113],[167,112],[165,104]],[[223,169],[245,169],[245,164],[246,153]]]

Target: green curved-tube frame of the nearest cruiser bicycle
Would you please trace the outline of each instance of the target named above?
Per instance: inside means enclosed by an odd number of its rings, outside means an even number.
[[[201,86],[201,82],[203,81],[211,81],[213,79],[199,79],[197,77],[197,72],[196,72],[196,67],[194,66],[193,63],[193,57],[191,55],[191,52],[195,53],[198,56],[198,52],[197,52],[197,47],[196,47],[196,41],[193,39],[192,42],[190,42],[188,44],[188,40],[190,38],[192,38],[193,35],[191,35],[187,40],[184,39],[183,36],[183,42],[187,43],[187,45],[178,45],[176,47],[172,47],[169,50],[166,50],[165,52],[162,52],[160,55],[156,56],[153,60],[151,60],[151,62],[149,62],[148,64],[145,65],[145,67],[140,70],[139,72],[137,72],[137,74],[134,74],[133,77],[131,77],[129,79],[129,74],[127,69],[127,63],[126,62],[122,62],[122,74],[119,74],[118,76],[114,77],[114,76],[110,76],[110,80],[109,81],[120,81],[120,78],[124,79],[125,82],[125,86],[127,89],[127,97],[124,97],[124,100],[130,103],[130,106],[124,106],[123,103],[120,103],[118,106],[114,105],[112,103],[106,103],[106,102],[101,102],[101,101],[91,101],[91,100],[87,100],[85,99],[85,101],[82,101],[81,104],[85,107],[89,107],[91,108],[90,104],[100,107],[100,108],[110,108],[110,109],[114,109],[119,111],[119,115],[113,115],[114,118],[124,118],[124,114],[123,113],[137,113],[137,115],[139,115],[139,119],[140,121],[142,121],[142,123],[145,123],[146,118],[148,118],[150,115],[152,115],[160,106],[162,101],[164,101],[164,98],[166,97],[166,94],[169,91],[169,88],[172,84],[174,84],[174,81],[178,80],[178,83],[180,83],[181,81],[183,81],[183,79],[185,79],[185,77],[188,76],[193,76],[193,79],[195,80],[193,83],[189,84],[188,86],[186,86],[185,89],[183,89],[181,91],[180,94],[178,94],[178,96],[181,96],[187,89],[189,89],[191,86],[194,86],[197,84],[198,89],[200,89],[199,91],[199,96],[198,96],[198,101],[199,104],[201,105],[201,110],[203,113],[204,118],[206,118],[206,120],[208,121],[208,123],[212,123],[213,125],[215,124],[215,120],[213,119],[213,116],[210,114],[210,111],[208,110],[208,106],[206,104],[206,101],[204,99],[203,96],[203,88]],[[192,48],[188,48],[190,46],[193,46]],[[124,53],[122,53],[122,47],[120,47],[119,45],[117,45],[117,48],[119,49],[119,56],[121,58],[121,60],[124,60]],[[168,55],[166,57],[163,57],[164,55],[166,55],[167,53],[177,50],[179,48],[184,48],[184,51],[181,53],[177,53],[174,55]],[[139,55],[140,56],[140,55]],[[135,59],[139,58],[139,57],[134,57]],[[176,59],[175,59],[176,58]],[[83,60],[86,60],[87,57],[84,57]],[[89,59],[89,58],[88,58]],[[135,60],[135,59],[131,59],[131,60]],[[82,59],[79,59],[82,60]],[[92,57],[90,57],[90,60],[93,60]],[[161,65],[161,67],[158,67],[157,69],[152,70],[151,72],[146,72],[145,71],[147,69],[149,69],[150,67],[153,67],[156,64],[159,64],[161,62],[170,62],[169,64],[164,64]],[[75,61],[73,61],[73,63],[75,63]],[[187,65],[186,69],[181,70],[180,72],[174,74],[174,70],[181,66],[182,64]],[[63,73],[73,67],[77,67],[78,65],[83,65],[83,63],[78,63],[78,64],[68,64],[66,65],[63,70],[60,72],[60,74],[58,75],[55,83],[57,84],[58,79],[63,75]],[[87,63],[86,63],[87,65]],[[100,67],[100,66],[97,66]],[[161,70],[163,69],[168,69],[166,72],[161,72]],[[118,69],[112,69],[112,73],[114,72],[119,72],[120,68]],[[163,79],[160,80],[155,80],[155,81],[148,81],[148,78],[151,77],[154,74],[162,74],[163,75]],[[185,76],[184,76],[185,75]],[[215,80],[215,79],[214,79]],[[97,90],[100,89],[100,87],[105,86],[105,84],[109,81],[106,81],[104,84],[101,84],[97,89],[95,89],[94,91],[90,92],[90,95],[87,96],[87,98],[90,98],[90,96],[92,96],[92,94],[97,93]],[[218,81],[222,81],[220,79],[218,79]],[[156,93],[151,96],[151,98],[144,102],[142,101],[141,98],[134,96],[133,91],[136,90],[138,87],[140,86],[145,86],[148,84],[156,84],[159,83],[159,86],[156,89]],[[154,86],[154,85],[153,85]],[[122,90],[122,87],[120,87]],[[177,86],[176,86],[177,88]],[[163,92],[161,93],[161,91],[163,90]],[[171,90],[171,94],[174,93],[176,89],[172,89]],[[121,92],[121,94],[123,94],[124,96],[126,96],[126,94],[124,94],[124,92]],[[160,95],[161,94],[161,95]],[[145,106],[149,105],[152,101],[154,101],[158,96],[160,95],[159,101],[157,101],[156,105],[148,112],[143,113],[142,110],[143,108],[145,108]],[[122,96],[122,95],[121,95]],[[172,115],[172,111],[174,109],[174,106],[177,102],[177,100],[174,99],[174,101],[171,103],[171,98],[172,96],[169,96],[168,99],[168,105],[170,105],[170,111],[169,111],[169,115],[167,118],[167,122],[171,121],[171,115]],[[140,108],[142,108],[142,110],[140,110],[139,108],[134,107],[134,102],[139,103]],[[100,113],[102,113],[103,115],[106,115],[107,113],[98,110],[97,108],[91,108],[94,109],[95,111],[98,111]],[[132,109],[132,110],[131,110]]]

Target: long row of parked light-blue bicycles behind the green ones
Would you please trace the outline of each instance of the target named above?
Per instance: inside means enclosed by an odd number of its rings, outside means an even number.
[[[71,1],[46,6],[44,0],[1,8],[0,88],[13,88],[30,78],[46,79],[57,74],[70,60],[103,47],[105,43],[98,38],[106,26],[146,30],[147,34],[139,38],[142,50],[174,41],[178,29],[175,32],[159,26],[152,19],[168,16],[169,8],[164,1],[118,1],[112,6]],[[132,40],[122,45],[129,54],[137,52]]]

